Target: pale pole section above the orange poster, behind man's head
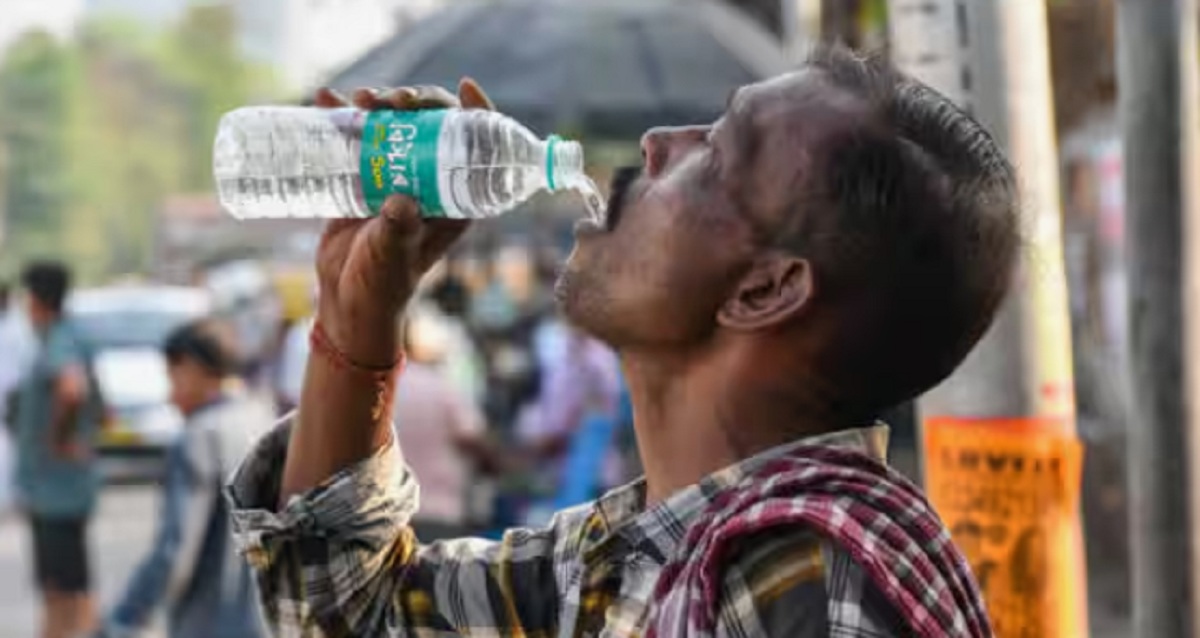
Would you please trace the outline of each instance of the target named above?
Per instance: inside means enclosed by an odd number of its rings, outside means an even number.
[[[893,0],[889,20],[896,66],[962,104],[1018,167],[1028,245],[996,325],[922,411],[1074,417],[1045,5]]]

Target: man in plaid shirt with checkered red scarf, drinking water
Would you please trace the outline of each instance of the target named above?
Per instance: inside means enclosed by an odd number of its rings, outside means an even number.
[[[491,108],[469,80],[354,103]],[[997,145],[919,83],[824,50],[642,152],[557,295],[620,355],[646,477],[498,542],[414,538],[388,422],[395,318],[464,223],[392,198],[330,224],[300,409],[230,487],[280,634],[991,634],[875,420],[946,378],[1009,285]]]

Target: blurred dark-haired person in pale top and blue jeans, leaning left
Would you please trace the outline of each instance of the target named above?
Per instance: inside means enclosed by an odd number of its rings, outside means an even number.
[[[250,449],[271,407],[229,390],[236,350],[224,326],[197,321],[163,344],[170,401],[186,420],[167,452],[158,532],[97,637],[139,636],[158,608],[170,638],[259,638],[250,568],[236,555],[222,480]]]

